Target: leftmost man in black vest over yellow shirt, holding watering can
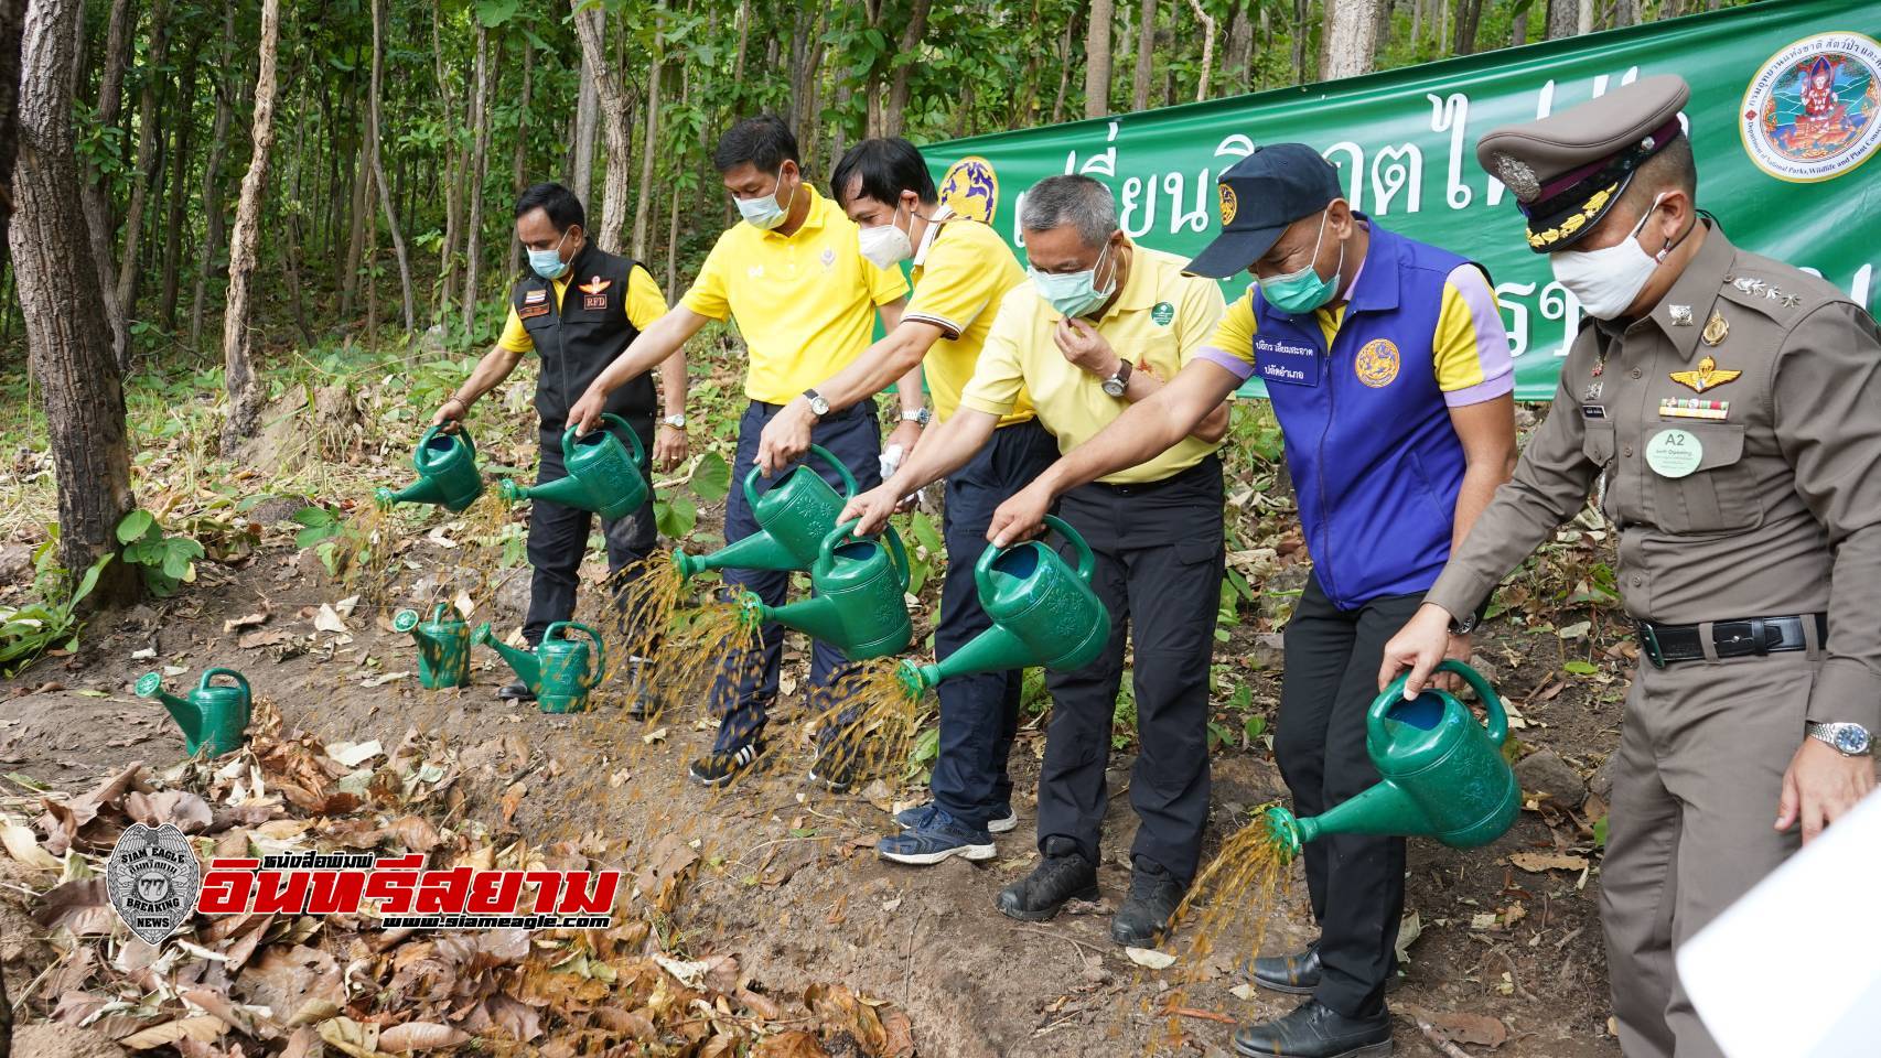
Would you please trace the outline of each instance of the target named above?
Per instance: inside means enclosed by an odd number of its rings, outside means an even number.
[[[540,485],[568,474],[562,466],[568,406],[621,350],[634,342],[641,327],[666,312],[666,299],[645,267],[589,242],[581,201],[561,184],[534,184],[523,192],[515,201],[515,237],[529,252],[529,271],[510,289],[510,316],[502,336],[478,361],[457,393],[438,408],[433,423],[461,421],[480,397],[500,385],[523,355],[534,350],[542,357],[536,378],[536,415],[542,419],[542,462],[536,472]],[[664,417],[658,436],[653,428],[658,402],[651,372],[615,389],[608,398],[608,412],[626,419],[640,443],[653,453],[651,462],[666,470],[687,457],[685,351],[675,351],[660,363],[660,389]],[[609,428],[621,432],[619,427]],[[626,442],[624,436],[621,440]],[[589,511],[562,504],[530,502],[532,575],[529,616],[523,622],[523,637],[530,646],[542,641],[549,624],[574,616],[576,583],[591,519]],[[604,519],[602,534],[608,539],[608,571],[628,569],[626,577],[636,577],[640,562],[656,543],[653,504],[619,521]],[[634,680],[628,686],[645,684]],[[534,697],[521,680],[497,693],[506,699]],[[628,703],[630,712],[643,707],[643,701]]]

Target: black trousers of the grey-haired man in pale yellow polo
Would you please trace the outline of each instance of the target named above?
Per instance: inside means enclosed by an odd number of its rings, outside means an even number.
[[[1059,517],[1097,552],[1091,586],[1110,609],[1104,654],[1072,673],[1048,673],[1051,723],[1038,772],[1038,848],[1070,838],[1099,863],[1104,765],[1123,686],[1123,643],[1136,645],[1140,752],[1130,772],[1138,829],[1130,853],[1194,879],[1208,825],[1208,665],[1221,607],[1221,460],[1209,457],[1149,485],[1072,489]],[[1059,554],[1076,562],[1070,545]]]

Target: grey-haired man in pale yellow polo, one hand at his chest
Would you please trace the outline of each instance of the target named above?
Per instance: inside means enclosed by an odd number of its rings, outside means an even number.
[[[1162,389],[1215,331],[1221,289],[1183,276],[1183,259],[1130,242],[1110,188],[1048,177],[1020,210],[1033,282],[1006,293],[959,412],[937,427],[880,489],[845,519],[875,532],[895,502],[965,466],[1029,391],[1038,421],[1070,451],[1136,400]],[[1038,868],[999,895],[1014,919],[1044,921],[1068,900],[1095,900],[1104,821],[1104,763],[1134,635],[1136,723],[1130,778],[1140,827],[1130,891],[1110,923],[1123,945],[1153,945],[1194,879],[1208,821],[1208,667],[1221,598],[1219,404],[1157,459],[1068,492],[1061,517],[1097,554],[1091,588],[1112,615],[1104,654],[1048,673],[1051,725],[1038,774]],[[1065,549],[1070,551],[1068,547]],[[1132,628],[1134,626],[1134,628]]]

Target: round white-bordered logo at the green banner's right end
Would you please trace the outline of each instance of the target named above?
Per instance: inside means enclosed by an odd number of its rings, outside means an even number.
[[[1881,145],[1881,43],[1855,32],[1804,38],[1770,56],[1744,92],[1744,152],[1779,180],[1840,177]]]

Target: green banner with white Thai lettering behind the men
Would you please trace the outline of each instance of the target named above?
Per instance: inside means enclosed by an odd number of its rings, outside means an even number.
[[[1516,397],[1548,400],[1580,304],[1554,280],[1546,256],[1529,252],[1514,197],[1477,165],[1477,139],[1638,77],[1678,73],[1691,85],[1683,117],[1699,205],[1738,246],[1817,272],[1873,312],[1881,165],[1860,165],[1881,145],[1875,36],[1875,0],[1766,0],[924,152],[942,199],[991,220],[1016,248],[1025,188],[1085,173],[1117,194],[1130,239],[1194,254],[1219,229],[1217,173],[1257,143],[1309,143],[1339,165],[1356,209],[1488,267],[1516,355]],[[1247,284],[1243,276],[1223,289],[1234,299]],[[1260,395],[1258,380],[1243,393]]]

